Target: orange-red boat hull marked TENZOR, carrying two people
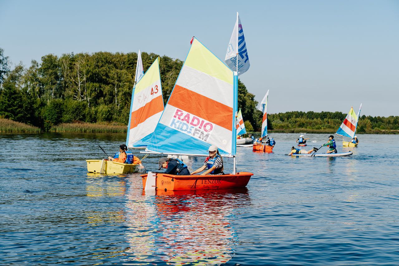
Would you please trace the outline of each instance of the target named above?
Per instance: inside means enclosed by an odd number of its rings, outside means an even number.
[[[240,172],[235,175],[170,175],[156,173],[156,190],[199,190],[245,187],[253,173]],[[147,174],[141,175],[143,188],[146,187]]]

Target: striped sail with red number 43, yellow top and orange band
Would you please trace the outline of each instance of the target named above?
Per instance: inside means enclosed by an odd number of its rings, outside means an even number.
[[[159,57],[152,63],[132,91],[126,146],[145,147],[164,110]]]

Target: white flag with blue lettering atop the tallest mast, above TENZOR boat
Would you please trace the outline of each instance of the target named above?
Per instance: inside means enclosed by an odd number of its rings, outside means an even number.
[[[237,51],[238,48],[238,51]],[[237,21],[231,34],[229,45],[225,57],[226,64],[231,70],[237,71],[237,53],[238,53],[238,75],[245,73],[249,69],[249,57],[247,45],[245,44],[243,26],[237,12]]]

